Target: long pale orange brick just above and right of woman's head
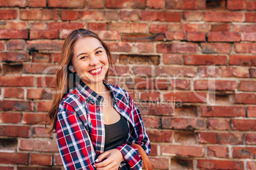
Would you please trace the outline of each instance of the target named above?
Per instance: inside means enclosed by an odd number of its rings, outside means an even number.
[[[108,30],[116,30],[120,33],[147,33],[146,23],[109,23]]]

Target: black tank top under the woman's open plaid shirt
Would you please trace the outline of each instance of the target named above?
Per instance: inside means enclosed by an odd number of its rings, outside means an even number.
[[[114,124],[105,124],[105,145],[104,151],[117,148],[125,143],[129,128],[127,121],[122,117]]]

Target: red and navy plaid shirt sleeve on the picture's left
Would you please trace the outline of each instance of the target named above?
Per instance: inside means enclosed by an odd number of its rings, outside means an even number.
[[[89,132],[70,105],[57,114],[56,132],[65,169],[94,169],[96,157]]]

